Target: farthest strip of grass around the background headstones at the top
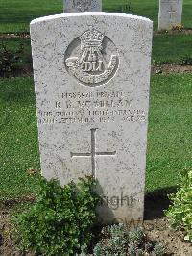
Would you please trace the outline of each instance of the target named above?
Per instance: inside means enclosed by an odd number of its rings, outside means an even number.
[[[32,19],[44,15],[62,13],[62,0],[0,0],[0,33],[29,31]],[[182,23],[192,27],[192,1],[184,0]],[[158,0],[103,0],[103,11],[133,13],[149,17],[157,28]]]

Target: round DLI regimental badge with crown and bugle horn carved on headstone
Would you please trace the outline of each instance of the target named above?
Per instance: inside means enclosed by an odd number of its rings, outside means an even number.
[[[68,73],[81,84],[96,87],[114,77],[119,55],[108,37],[90,28],[69,44],[64,62]]]

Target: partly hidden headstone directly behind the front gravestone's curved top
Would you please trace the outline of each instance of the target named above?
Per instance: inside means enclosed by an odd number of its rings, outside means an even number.
[[[64,13],[101,11],[102,0],[64,0]]]

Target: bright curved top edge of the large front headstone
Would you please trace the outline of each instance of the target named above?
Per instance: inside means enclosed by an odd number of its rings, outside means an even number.
[[[30,25],[34,25],[39,22],[44,22],[48,20],[54,20],[61,17],[75,17],[75,16],[117,16],[117,17],[126,17],[130,19],[139,19],[146,22],[153,23],[153,21],[147,17],[132,15],[132,14],[125,14],[125,13],[105,13],[105,12],[83,12],[83,13],[61,13],[55,14],[50,16],[39,17],[31,21]]]

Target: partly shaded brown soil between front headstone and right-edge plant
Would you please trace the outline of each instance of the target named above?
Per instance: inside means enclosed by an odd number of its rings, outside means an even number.
[[[192,243],[184,241],[184,231],[169,225],[164,211],[171,204],[167,194],[177,192],[177,187],[158,190],[145,197],[145,221],[143,227],[149,240],[164,244],[168,255],[192,255]]]

